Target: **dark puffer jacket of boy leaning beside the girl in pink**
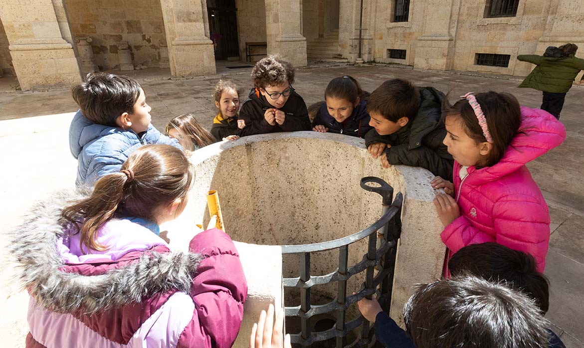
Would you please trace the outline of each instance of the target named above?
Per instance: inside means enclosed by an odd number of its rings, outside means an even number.
[[[376,142],[390,144],[385,150],[392,165],[408,165],[430,170],[434,175],[452,180],[454,159],[443,144],[446,128],[440,120],[444,93],[432,87],[420,88],[420,108],[405,127],[390,135],[374,129],[365,135],[367,147]]]

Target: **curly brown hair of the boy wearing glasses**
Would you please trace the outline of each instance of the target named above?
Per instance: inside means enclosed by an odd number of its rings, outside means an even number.
[[[255,88],[280,86],[286,81],[291,85],[294,83],[294,67],[280,55],[268,55],[253,67],[252,79]]]

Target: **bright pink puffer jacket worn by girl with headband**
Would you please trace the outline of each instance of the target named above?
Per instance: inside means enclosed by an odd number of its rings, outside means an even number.
[[[521,108],[523,133],[517,134],[503,158],[491,167],[468,168],[464,180],[454,162],[454,193],[461,216],[444,228],[442,241],[453,253],[464,246],[497,242],[530,253],[540,272],[550,242],[550,213],[525,163],[564,141],[566,130],[551,114]]]

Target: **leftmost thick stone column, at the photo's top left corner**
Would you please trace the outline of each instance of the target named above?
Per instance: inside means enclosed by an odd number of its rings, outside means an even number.
[[[20,88],[32,91],[70,87],[81,82],[79,61],[61,32],[51,0],[0,2]],[[67,36],[71,37],[70,32]]]

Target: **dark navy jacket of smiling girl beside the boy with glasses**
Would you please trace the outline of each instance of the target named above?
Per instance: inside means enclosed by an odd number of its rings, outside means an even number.
[[[328,131],[331,133],[364,138],[365,134],[373,129],[373,127],[369,126],[369,120],[371,120],[371,117],[369,116],[369,113],[367,113],[366,105],[366,100],[361,100],[359,105],[353,109],[347,124],[343,127],[342,124],[335,120],[335,117],[332,117],[331,114],[329,114],[326,103],[324,103],[321,108],[318,109],[317,116],[312,120],[312,128],[321,124],[322,126],[329,128]]]

